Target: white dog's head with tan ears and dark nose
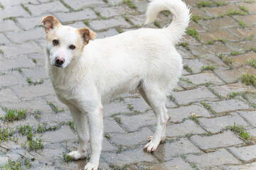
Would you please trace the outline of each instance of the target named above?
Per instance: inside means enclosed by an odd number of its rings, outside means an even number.
[[[46,51],[50,64],[55,67],[65,68],[78,60],[83,47],[96,38],[96,33],[92,30],[63,26],[54,16],[43,17],[42,23],[46,31]]]

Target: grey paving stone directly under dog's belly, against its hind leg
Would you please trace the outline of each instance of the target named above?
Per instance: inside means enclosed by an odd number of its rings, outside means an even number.
[[[124,102],[127,103],[127,107],[128,107],[128,104],[132,104],[132,106],[134,106],[133,111],[145,112],[145,111],[149,111],[149,109],[151,109],[151,107],[146,103],[146,101],[144,101],[144,99],[142,97],[140,97],[140,98],[125,98]]]

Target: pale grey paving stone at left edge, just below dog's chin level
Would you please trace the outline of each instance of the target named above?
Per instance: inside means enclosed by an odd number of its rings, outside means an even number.
[[[17,84],[27,84],[26,80],[18,72],[14,71],[10,74],[0,75],[0,86],[13,86]]]

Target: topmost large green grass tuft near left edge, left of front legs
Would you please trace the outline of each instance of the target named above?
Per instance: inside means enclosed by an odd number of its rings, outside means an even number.
[[[1,119],[6,122],[13,122],[14,120],[22,120],[27,116],[27,110],[4,109],[6,114]]]

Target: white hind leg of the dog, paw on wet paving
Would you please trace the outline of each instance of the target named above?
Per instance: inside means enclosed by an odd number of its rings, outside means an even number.
[[[147,152],[154,152],[159,143],[164,141],[166,122],[169,119],[165,107],[166,94],[158,86],[143,86],[139,91],[156,115],[156,130],[152,137],[148,137],[149,143],[144,147]]]

